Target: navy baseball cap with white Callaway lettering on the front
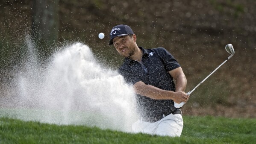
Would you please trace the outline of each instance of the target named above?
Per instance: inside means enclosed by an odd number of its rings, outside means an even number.
[[[129,34],[134,34],[130,26],[120,24],[117,26],[114,26],[110,32],[110,40],[109,40],[109,45],[113,44],[113,39],[117,36],[124,36],[124,35],[129,35]]]

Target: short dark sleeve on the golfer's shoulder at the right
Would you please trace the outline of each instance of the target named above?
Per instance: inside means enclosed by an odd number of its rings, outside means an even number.
[[[172,56],[171,53],[169,53],[168,50],[163,47],[159,48],[159,56],[161,57],[167,71],[172,71],[181,67],[178,61],[174,59],[174,56]]]

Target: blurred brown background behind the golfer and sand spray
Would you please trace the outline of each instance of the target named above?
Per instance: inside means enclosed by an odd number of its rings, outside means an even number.
[[[255,118],[255,7],[255,0],[1,0],[0,88],[22,71],[28,39],[41,65],[62,46],[82,42],[117,69],[123,58],[108,45],[109,32],[127,24],[139,46],[174,55],[188,80],[186,92],[230,56],[224,47],[232,44],[235,55],[191,94],[183,113]]]

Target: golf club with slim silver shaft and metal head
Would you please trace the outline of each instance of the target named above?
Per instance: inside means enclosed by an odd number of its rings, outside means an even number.
[[[225,62],[227,62],[227,61],[235,54],[235,51],[234,51],[234,48],[233,48],[232,44],[227,44],[226,47],[225,47],[225,49],[227,50],[228,53],[230,53],[230,56],[229,56],[221,65],[223,65]],[[218,68],[220,68],[221,65],[219,65]],[[215,71],[217,71],[218,68],[216,68],[214,71],[212,71],[212,73],[214,73]],[[212,73],[210,73],[209,76],[211,76]],[[191,91],[189,91],[189,92],[187,93],[187,95],[190,95],[190,94],[191,94],[199,85],[201,85],[209,76],[207,76],[205,79],[203,79],[203,81],[200,82],[195,88],[193,88]],[[180,108],[180,107],[182,107],[184,104],[185,104],[184,102],[181,102],[181,103],[175,103],[175,102],[174,102],[174,106],[175,106],[176,108]]]

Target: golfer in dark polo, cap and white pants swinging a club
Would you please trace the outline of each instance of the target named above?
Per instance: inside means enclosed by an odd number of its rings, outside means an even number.
[[[174,102],[187,102],[184,92],[185,74],[174,57],[162,47],[144,49],[136,44],[137,37],[127,25],[114,26],[109,45],[125,57],[119,73],[132,84],[137,94],[140,119],[132,124],[134,132],[151,135],[180,136],[182,112]],[[174,80],[176,83],[174,83]]]

